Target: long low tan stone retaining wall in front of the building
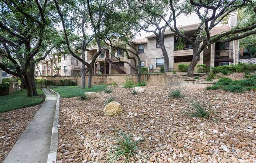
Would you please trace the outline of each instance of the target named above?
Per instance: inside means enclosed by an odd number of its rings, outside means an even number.
[[[38,76],[37,78],[46,80],[77,80],[77,85],[81,85],[81,76]],[[93,75],[91,80],[92,85],[112,84],[114,82],[118,85],[123,85],[127,79],[137,82],[136,75],[132,74]],[[187,79],[172,73],[141,75],[141,81],[146,82],[147,85],[181,85],[198,88],[205,88],[215,84],[215,82],[200,82],[194,79]],[[87,83],[88,76],[86,76],[86,85]]]

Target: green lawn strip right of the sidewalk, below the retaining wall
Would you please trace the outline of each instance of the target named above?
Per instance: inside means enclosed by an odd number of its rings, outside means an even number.
[[[53,88],[53,90],[58,92],[60,94],[60,97],[62,98],[71,98],[71,97],[79,96],[80,91],[100,92],[100,91],[103,91],[106,87],[107,85],[93,85],[92,88],[81,89],[80,85],[75,85],[75,86],[57,87],[57,88]]]

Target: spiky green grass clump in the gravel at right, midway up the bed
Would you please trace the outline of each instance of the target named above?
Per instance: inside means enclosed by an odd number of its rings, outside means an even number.
[[[194,117],[203,117],[209,118],[210,114],[212,114],[212,108],[210,102],[208,101],[205,106],[202,106],[200,103],[194,101],[192,102],[192,110],[188,110],[185,115],[194,116]]]

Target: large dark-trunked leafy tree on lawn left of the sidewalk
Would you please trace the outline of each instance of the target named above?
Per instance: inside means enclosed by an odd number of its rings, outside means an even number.
[[[0,2],[0,48],[5,49],[7,59],[15,66],[10,71],[8,64],[0,63],[5,72],[17,76],[26,85],[28,96],[37,96],[35,86],[35,63],[53,49],[46,45],[50,40],[49,31],[55,31],[52,16],[52,3],[48,0],[1,0]],[[42,47],[46,52],[36,58]]]

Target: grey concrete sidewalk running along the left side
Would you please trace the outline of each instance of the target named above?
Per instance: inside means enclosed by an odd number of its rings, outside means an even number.
[[[46,163],[57,97],[43,91],[46,99],[3,163]],[[15,102],[15,101],[14,101]]]

